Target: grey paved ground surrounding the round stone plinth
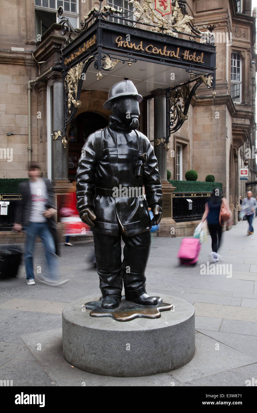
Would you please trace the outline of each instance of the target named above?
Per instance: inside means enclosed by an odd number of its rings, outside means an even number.
[[[17,278],[0,281],[0,380],[12,380],[13,386],[53,387],[256,385],[257,230],[246,236],[247,227],[240,221],[222,234],[222,259],[217,263],[222,266],[210,260],[210,235],[198,263],[189,267],[179,266],[176,257],[181,237],[152,237],[148,294],[181,297],[196,315],[194,358],[158,375],[100,376],[74,368],[62,356],[63,307],[86,295],[101,295],[98,275],[90,268],[92,242],[61,246],[61,273],[70,281],[59,287],[37,281],[28,286],[21,265]],[[34,268],[35,274],[45,274],[41,243],[35,244]]]

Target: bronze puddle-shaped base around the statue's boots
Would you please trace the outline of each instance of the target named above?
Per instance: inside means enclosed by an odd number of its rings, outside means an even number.
[[[112,317],[116,321],[130,321],[134,318],[160,318],[160,311],[167,311],[173,308],[172,304],[163,303],[161,297],[156,297],[158,299],[157,306],[142,306],[140,304],[135,304],[132,301],[127,301],[125,296],[122,297],[120,305],[113,310],[105,310],[101,308],[101,303],[103,298],[101,297],[99,301],[90,301],[85,303],[85,308],[92,310],[90,312],[91,317]]]

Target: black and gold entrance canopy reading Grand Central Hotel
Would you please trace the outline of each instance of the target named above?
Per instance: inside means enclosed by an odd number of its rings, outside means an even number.
[[[132,0],[129,5],[124,11],[99,2],[81,29],[73,28],[59,7],[62,34],[68,33],[62,49],[65,132],[81,104],[82,88],[108,91],[129,78],[143,97],[166,90],[167,143],[187,119],[198,86],[215,88],[215,46],[210,33],[193,27],[185,1]]]

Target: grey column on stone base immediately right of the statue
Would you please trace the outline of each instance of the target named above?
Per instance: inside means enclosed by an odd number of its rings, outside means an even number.
[[[154,153],[158,161],[163,191],[163,218],[159,224],[158,237],[176,237],[176,223],[172,219],[172,192],[174,187],[167,180],[167,152],[158,139],[166,139],[166,90],[156,89],[154,95]]]

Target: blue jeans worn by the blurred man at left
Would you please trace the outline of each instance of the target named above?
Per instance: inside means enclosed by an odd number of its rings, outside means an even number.
[[[30,222],[25,226],[26,230],[26,247],[24,254],[26,278],[34,278],[33,272],[33,249],[35,237],[39,235],[46,252],[48,278],[57,280],[59,278],[59,259],[55,254],[54,239],[46,222]]]

